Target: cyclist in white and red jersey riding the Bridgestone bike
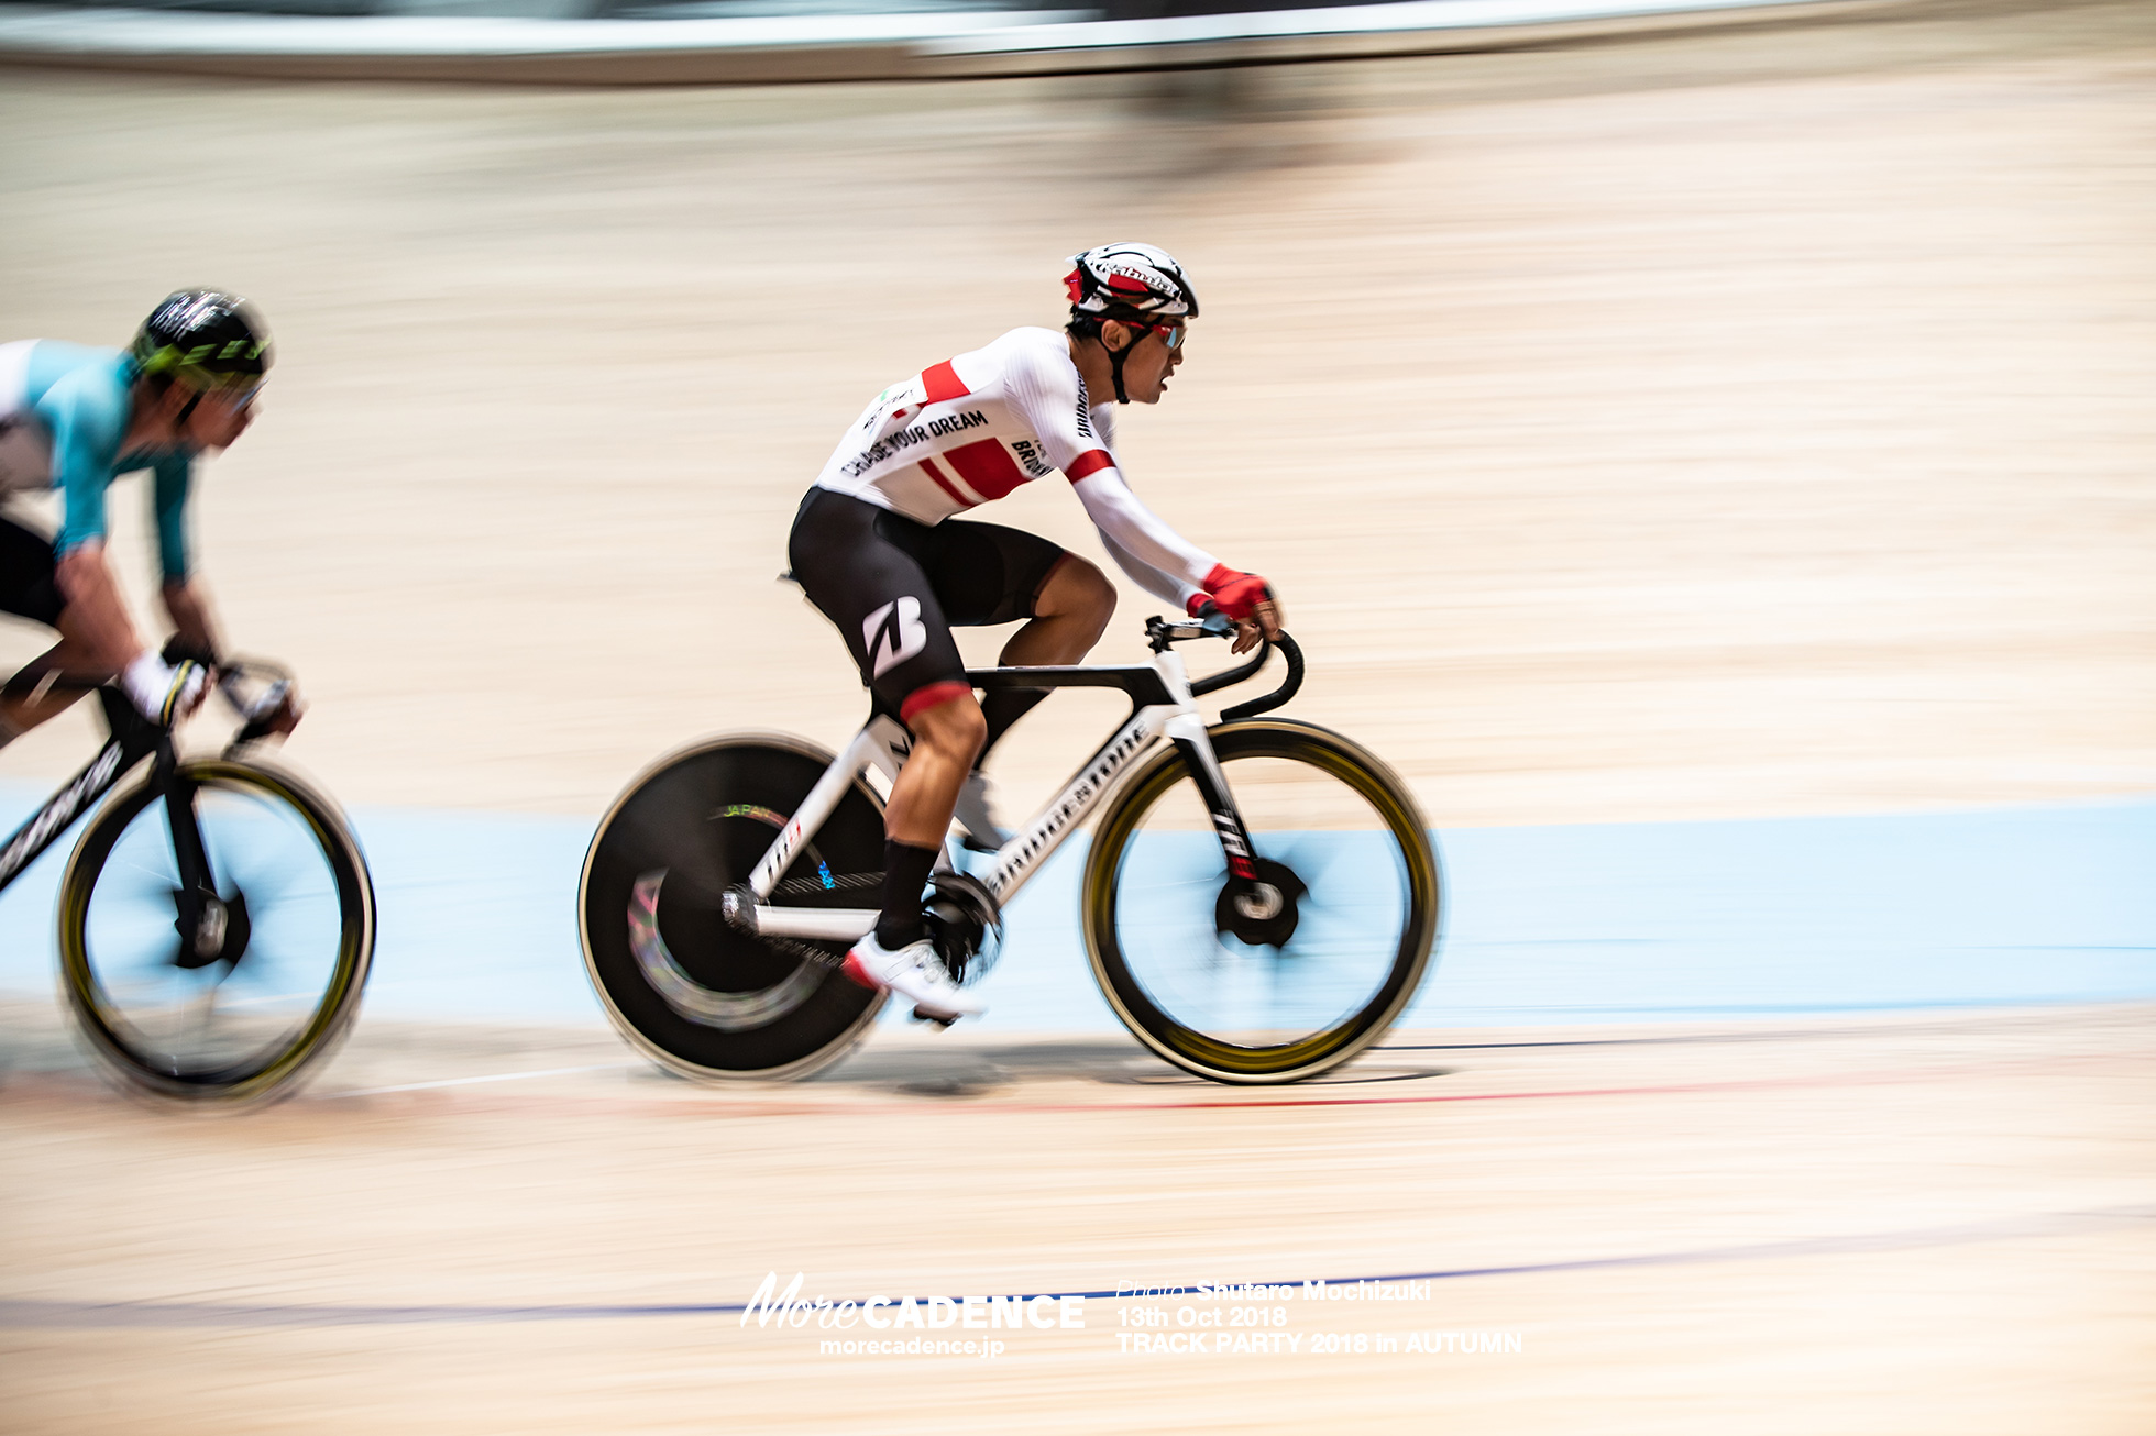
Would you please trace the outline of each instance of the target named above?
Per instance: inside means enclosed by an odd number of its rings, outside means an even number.
[[[936,959],[921,899],[953,813],[994,841],[977,763],[1046,690],[975,699],[951,627],[1026,621],[1003,664],[1074,664],[1115,612],[1115,586],[1048,539],[953,515],[1056,470],[1117,565],[1143,589],[1240,623],[1235,651],[1279,636],[1272,589],[1186,541],[1138,502],[1115,455],[1117,403],[1160,403],[1184,362],[1199,300],[1181,265],[1149,244],[1072,259],[1063,332],[1011,330],[893,384],[847,429],[802,498],[789,558],[839,627],[880,709],[914,746],[884,809],[884,908],[845,972],[890,988],[923,1016],[981,1003]],[[959,798],[970,802],[959,806]]]

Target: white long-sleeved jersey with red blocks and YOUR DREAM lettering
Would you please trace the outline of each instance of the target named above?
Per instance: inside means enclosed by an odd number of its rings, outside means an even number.
[[[940,524],[1056,470],[1147,591],[1175,604],[1201,593],[1214,556],[1130,492],[1115,414],[1091,403],[1056,330],[1011,330],[893,384],[839,440],[817,487]]]

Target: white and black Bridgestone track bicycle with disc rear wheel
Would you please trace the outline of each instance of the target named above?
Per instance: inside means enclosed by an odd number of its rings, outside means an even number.
[[[1130,718],[979,875],[951,845],[923,895],[953,979],[977,981],[1003,906],[1100,809],[1087,957],[1117,1018],[1218,1082],[1294,1082],[1354,1059],[1414,996],[1440,927],[1438,858],[1399,778],[1339,733],[1259,718],[1302,684],[1294,638],[1190,681],[1177,643],[1218,617],[1151,619],[1130,666],[981,668],[977,690],[1119,688]],[[1207,727],[1197,699],[1287,677]],[[841,755],[772,733],[660,759],[614,800],[578,893],[584,966],[621,1035],[701,1080],[798,1078],[843,1057],[884,992],[839,972],[875,925],[882,796],[910,735],[877,714]]]

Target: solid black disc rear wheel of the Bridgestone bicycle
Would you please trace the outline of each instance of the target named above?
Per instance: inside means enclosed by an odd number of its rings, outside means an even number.
[[[718,737],[662,759],[614,802],[584,858],[584,966],[623,1037],[696,1080],[798,1078],[843,1057],[877,1009],[839,972],[843,942],[757,938],[727,923],[832,757],[783,735]],[[770,903],[875,908],[884,815],[856,781]]]

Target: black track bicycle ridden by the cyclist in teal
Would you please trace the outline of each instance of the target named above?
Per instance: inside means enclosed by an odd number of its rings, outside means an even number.
[[[375,893],[336,804],[250,757],[289,690],[274,664],[226,662],[244,724],[216,759],[181,759],[112,684],[17,675],[6,692],[95,688],[108,740],[0,845],[0,888],[144,759],[84,828],[60,878],[60,990],[123,1087],[190,1106],[280,1097],[351,1028],[375,947]]]

